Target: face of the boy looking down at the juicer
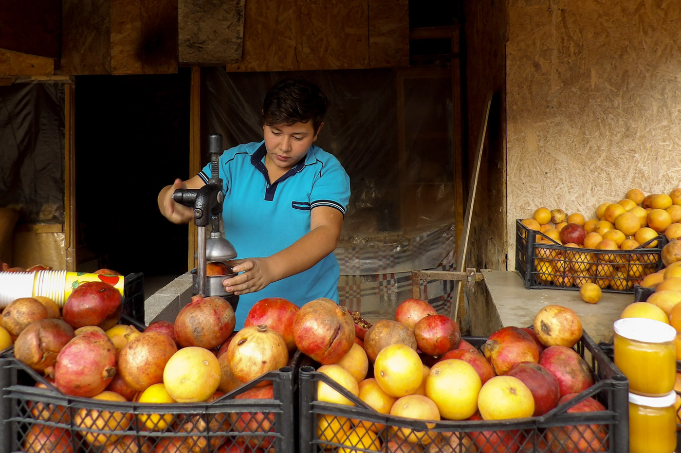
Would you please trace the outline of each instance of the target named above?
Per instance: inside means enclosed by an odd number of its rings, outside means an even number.
[[[319,125],[319,130],[321,130]],[[315,128],[312,121],[307,123],[295,123],[292,125],[264,125],[265,147],[267,149],[266,159],[275,166],[289,170],[296,166],[302,159],[312,143],[317,140]]]

